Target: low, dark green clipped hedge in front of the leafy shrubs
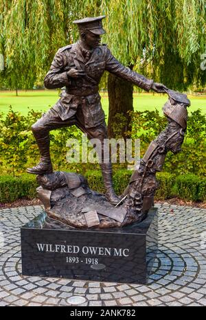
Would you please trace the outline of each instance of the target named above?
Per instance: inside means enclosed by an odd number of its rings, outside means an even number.
[[[113,174],[114,189],[122,194],[128,185],[132,171],[119,170]],[[99,170],[88,171],[85,174],[89,187],[98,192],[104,192],[102,173]],[[194,174],[175,176],[168,172],[157,173],[159,189],[155,194],[156,200],[178,196],[187,201],[206,201],[206,179]],[[19,177],[0,176],[0,203],[10,203],[18,198],[35,198],[36,176],[23,174]]]

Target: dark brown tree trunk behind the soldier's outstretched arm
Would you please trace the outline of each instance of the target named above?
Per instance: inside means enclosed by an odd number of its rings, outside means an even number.
[[[129,137],[130,114],[133,111],[133,84],[112,73],[108,76],[108,136]]]

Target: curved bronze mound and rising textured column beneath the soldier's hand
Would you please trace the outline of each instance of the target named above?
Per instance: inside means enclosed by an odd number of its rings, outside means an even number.
[[[86,179],[72,172],[38,175],[38,197],[50,218],[76,228],[115,228],[141,222],[154,203],[158,187],[156,172],[162,170],[168,151],[181,151],[187,126],[190,100],[183,93],[167,89],[169,100],[163,106],[168,125],[151,142],[140,161],[123,198],[115,207],[103,194],[89,189]]]

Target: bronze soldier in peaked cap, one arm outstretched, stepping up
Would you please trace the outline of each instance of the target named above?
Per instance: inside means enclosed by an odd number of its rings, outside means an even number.
[[[165,86],[153,82],[139,73],[121,65],[111,54],[106,45],[100,44],[100,36],[105,33],[102,19],[105,16],[85,18],[73,21],[78,25],[80,40],[73,45],[58,49],[52,66],[45,76],[47,89],[66,87],[61,98],[33,126],[41,154],[41,161],[27,172],[45,174],[52,172],[52,161],[49,154],[49,131],[75,124],[89,139],[98,138],[102,142],[104,156],[104,139],[108,137],[104,111],[100,103],[98,84],[104,71],[133,82],[138,87],[149,91],[165,92]],[[119,198],[113,191],[111,161],[100,163],[106,197],[113,204]]]

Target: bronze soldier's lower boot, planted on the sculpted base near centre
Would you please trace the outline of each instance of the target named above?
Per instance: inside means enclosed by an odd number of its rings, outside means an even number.
[[[117,205],[121,200],[113,190],[113,180],[112,180],[112,165],[111,163],[100,164],[102,169],[102,177],[104,181],[104,187],[106,189],[106,198],[112,205]]]

